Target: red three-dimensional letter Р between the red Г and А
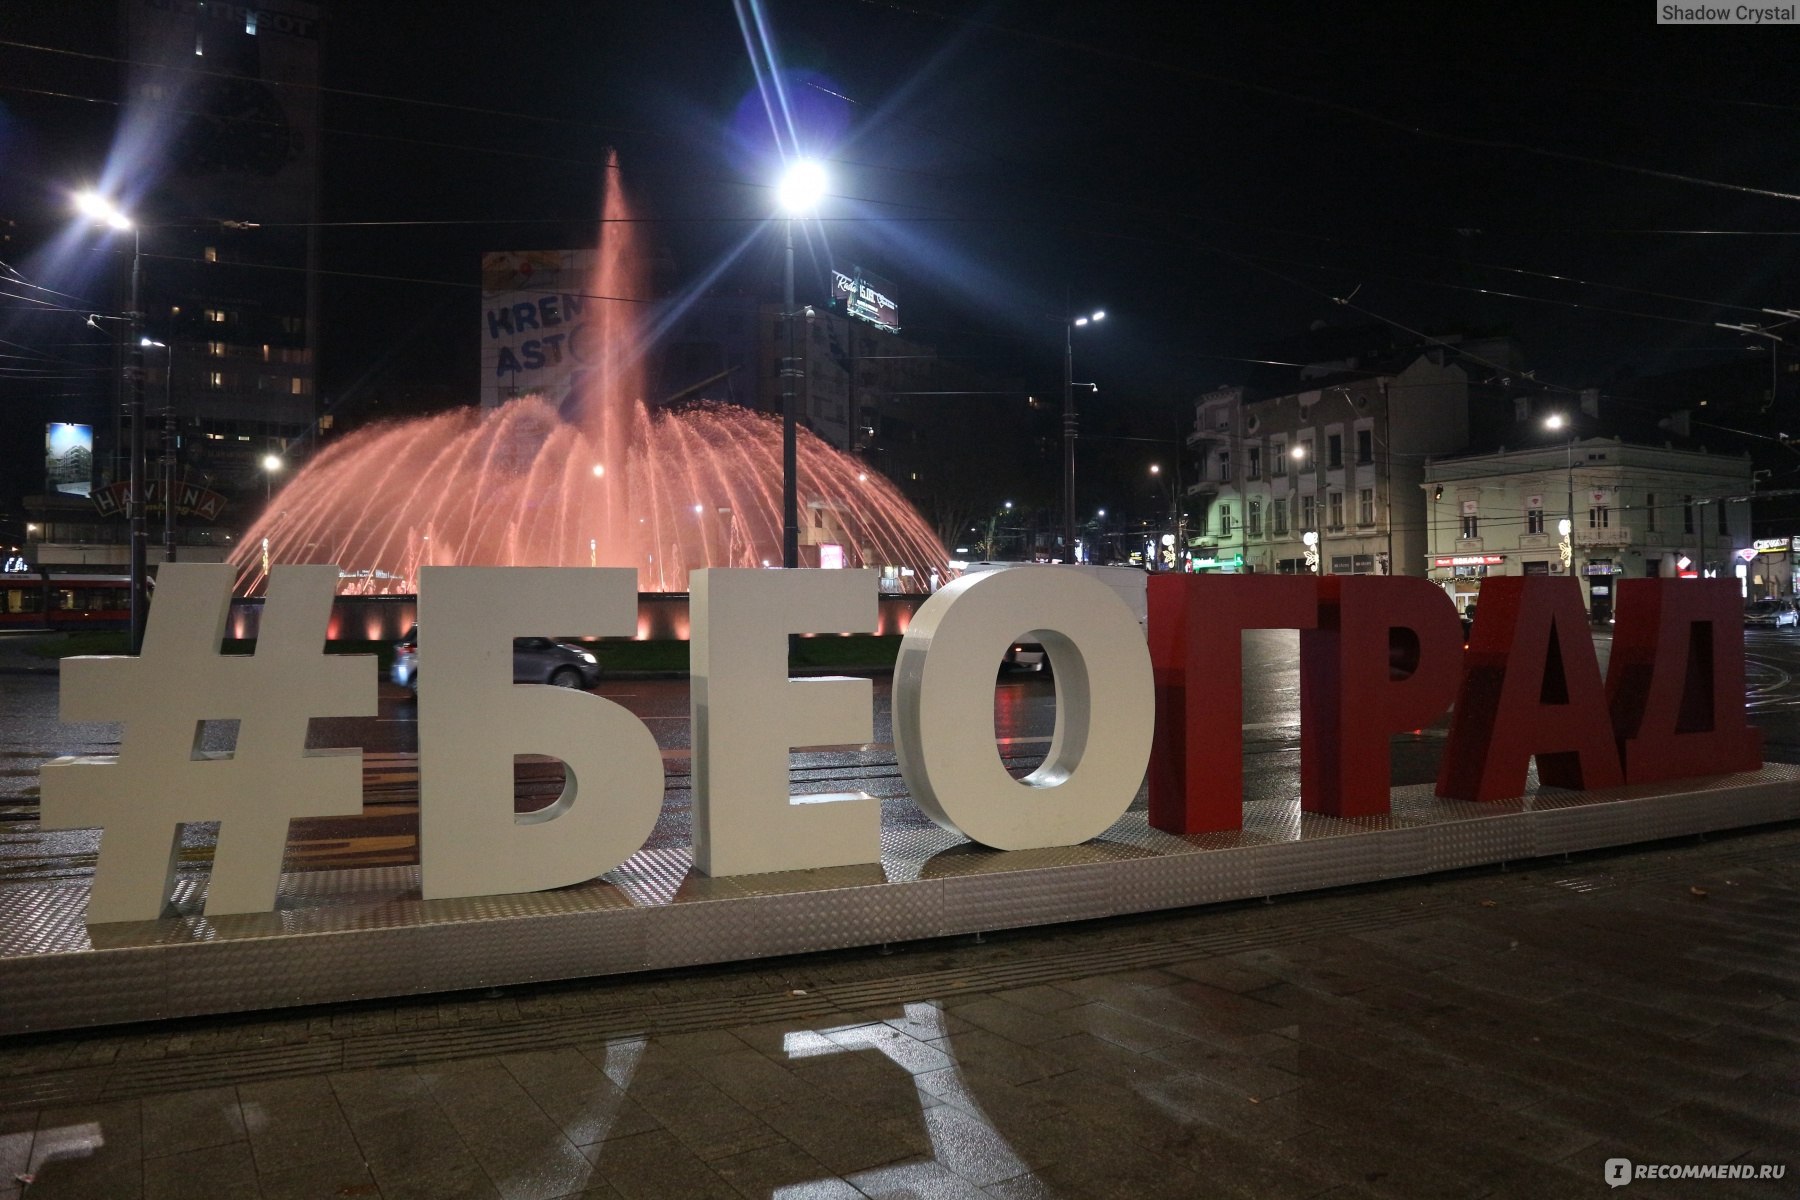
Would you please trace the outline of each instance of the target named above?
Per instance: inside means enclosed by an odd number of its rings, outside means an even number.
[[[1300,635],[1300,806],[1328,817],[1386,813],[1390,734],[1438,720],[1460,667],[1456,604],[1438,585],[1321,579],[1319,624]],[[1395,678],[1400,669],[1409,673]]]

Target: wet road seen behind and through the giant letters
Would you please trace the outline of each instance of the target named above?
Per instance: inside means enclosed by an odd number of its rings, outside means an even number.
[[[1597,637],[1604,664],[1611,639]],[[905,797],[893,752],[889,680],[873,680],[875,736],[860,747],[821,747],[792,756],[796,792],[862,790],[882,799],[884,820],[922,824]],[[668,790],[650,846],[686,838],[689,806],[689,721],[686,680],[605,680],[596,689],[630,709],[662,750]],[[1746,703],[1764,730],[1771,761],[1800,761],[1800,633],[1746,633]],[[1246,792],[1251,797],[1292,795],[1300,772],[1298,637],[1253,631],[1244,642]],[[92,871],[95,831],[38,828],[38,768],[61,754],[112,754],[119,725],[63,725],[56,720],[58,684],[50,675],[0,675],[0,885],[79,878]],[[1001,676],[994,691],[995,745],[1013,774],[1024,774],[1049,745],[1055,727],[1055,684],[1048,676]],[[230,727],[209,723],[207,748],[229,748]],[[288,867],[295,871],[418,862],[418,705],[383,684],[380,714],[362,720],[315,720],[315,747],[364,747],[364,815],[297,820],[290,833]],[[1444,723],[1393,739],[1395,784],[1436,775]],[[562,770],[551,759],[515,766],[520,811],[554,799]],[[1139,793],[1138,804],[1143,804]],[[182,835],[185,869],[205,869],[216,824],[191,824]]]

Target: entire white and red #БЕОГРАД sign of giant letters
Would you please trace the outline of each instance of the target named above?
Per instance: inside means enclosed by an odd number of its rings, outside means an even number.
[[[362,811],[360,748],[304,748],[313,718],[376,712],[374,658],[324,655],[338,569],[275,567],[252,655],[220,653],[234,576],[166,565],[140,657],[63,664],[67,720],[124,723],[117,756],[41,774],[45,829],[103,829],[90,923],[164,912],[187,822],[221,822],[205,903],[220,916],[274,907],[293,819]],[[652,835],[664,766],[646,725],[605,696],[511,682],[515,635],[632,635],[635,587],[634,569],[421,570],[425,900],[580,883]],[[1489,579],[1467,657],[1454,606],[1426,579],[1165,574],[1147,587],[1148,644],[1107,583],[1073,567],[963,576],[918,608],[893,673],[893,738],[927,817],[995,849],[1075,846],[1118,820],[1148,772],[1154,828],[1240,828],[1238,657],[1251,628],[1300,630],[1307,811],[1384,813],[1388,734],[1453,702],[1438,777],[1453,799],[1521,795],[1534,757],[1546,784],[1573,790],[1760,766],[1735,700],[1735,581],[1622,581],[1609,669],[1629,687],[1602,687],[1573,579]],[[792,747],[873,736],[873,685],[796,680],[787,666],[790,633],[875,630],[877,574],[697,570],[691,613],[695,865],[729,876],[878,864],[875,797],[794,797],[788,777]],[[994,743],[994,671],[1022,630],[1057,667],[1057,736],[1013,779]],[[1418,648],[1404,678],[1390,671],[1397,630]],[[1708,653],[1690,662],[1696,644]],[[198,720],[236,720],[236,748],[196,757]],[[563,763],[549,806],[515,813],[518,754]]]

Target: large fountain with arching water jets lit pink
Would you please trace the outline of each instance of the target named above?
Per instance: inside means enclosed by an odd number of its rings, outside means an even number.
[[[414,592],[434,565],[635,567],[639,590],[682,592],[697,567],[781,563],[779,419],[644,405],[630,299],[644,290],[616,185],[605,216],[590,291],[625,299],[589,300],[571,401],[526,396],[346,435],[239,543],[241,592],[261,592],[270,563],[338,563],[346,594]],[[878,569],[884,590],[949,578],[943,545],[893,484],[806,430],[799,497],[814,565]]]

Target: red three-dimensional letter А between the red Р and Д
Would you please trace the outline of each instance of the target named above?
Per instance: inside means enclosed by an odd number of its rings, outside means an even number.
[[[1537,781],[1553,788],[1624,783],[1579,588],[1575,579],[1546,576],[1481,585],[1438,795],[1523,795],[1532,756]]]

